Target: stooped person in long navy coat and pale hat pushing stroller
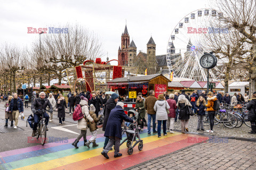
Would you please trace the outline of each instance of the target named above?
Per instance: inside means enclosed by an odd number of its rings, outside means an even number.
[[[101,152],[101,154],[107,159],[109,158],[108,151],[113,147],[113,145],[115,145],[114,157],[116,158],[122,156],[122,154],[119,154],[119,147],[120,141],[122,139],[121,125],[123,121],[131,123],[135,122],[124,113],[124,103],[118,102],[116,104],[116,107],[112,109],[112,111],[109,114],[109,120],[107,123],[106,131],[104,133],[104,136],[106,138],[109,138],[109,142],[106,148]]]

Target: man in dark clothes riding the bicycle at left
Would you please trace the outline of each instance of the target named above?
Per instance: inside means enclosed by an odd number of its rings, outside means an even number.
[[[45,92],[41,92],[39,94],[39,98],[35,99],[34,103],[31,105],[31,111],[34,113],[34,125],[33,125],[32,137],[35,137],[36,135],[36,128],[37,128],[40,114],[43,114],[43,117],[46,119],[45,121],[46,131],[48,130],[47,124],[49,122],[49,115],[46,113],[47,106],[50,108],[50,113],[52,113],[53,108],[50,101],[45,98]],[[44,109],[44,113],[43,113],[43,109]]]

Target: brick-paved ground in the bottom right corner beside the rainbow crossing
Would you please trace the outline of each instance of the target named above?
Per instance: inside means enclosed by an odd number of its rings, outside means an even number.
[[[256,142],[229,139],[228,142],[223,143],[199,143],[129,169],[254,170],[256,169]]]

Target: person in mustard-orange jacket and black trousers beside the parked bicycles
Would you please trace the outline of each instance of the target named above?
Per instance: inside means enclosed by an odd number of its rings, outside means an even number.
[[[217,100],[217,96],[212,96],[212,92],[210,91],[207,94],[207,104],[205,106],[207,107],[206,111],[208,112],[208,117],[210,121],[210,130],[207,130],[206,132],[213,133],[213,119],[215,116],[216,111],[213,109],[214,101]]]

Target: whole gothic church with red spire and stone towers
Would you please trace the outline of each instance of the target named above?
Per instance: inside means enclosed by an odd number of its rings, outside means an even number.
[[[124,32],[121,36],[121,47],[118,49],[118,61],[122,66],[138,66],[138,74],[145,74],[147,69],[148,75],[157,73],[169,73],[166,55],[156,55],[156,44],[152,37],[147,43],[147,53],[139,52],[132,40],[125,25]]]

